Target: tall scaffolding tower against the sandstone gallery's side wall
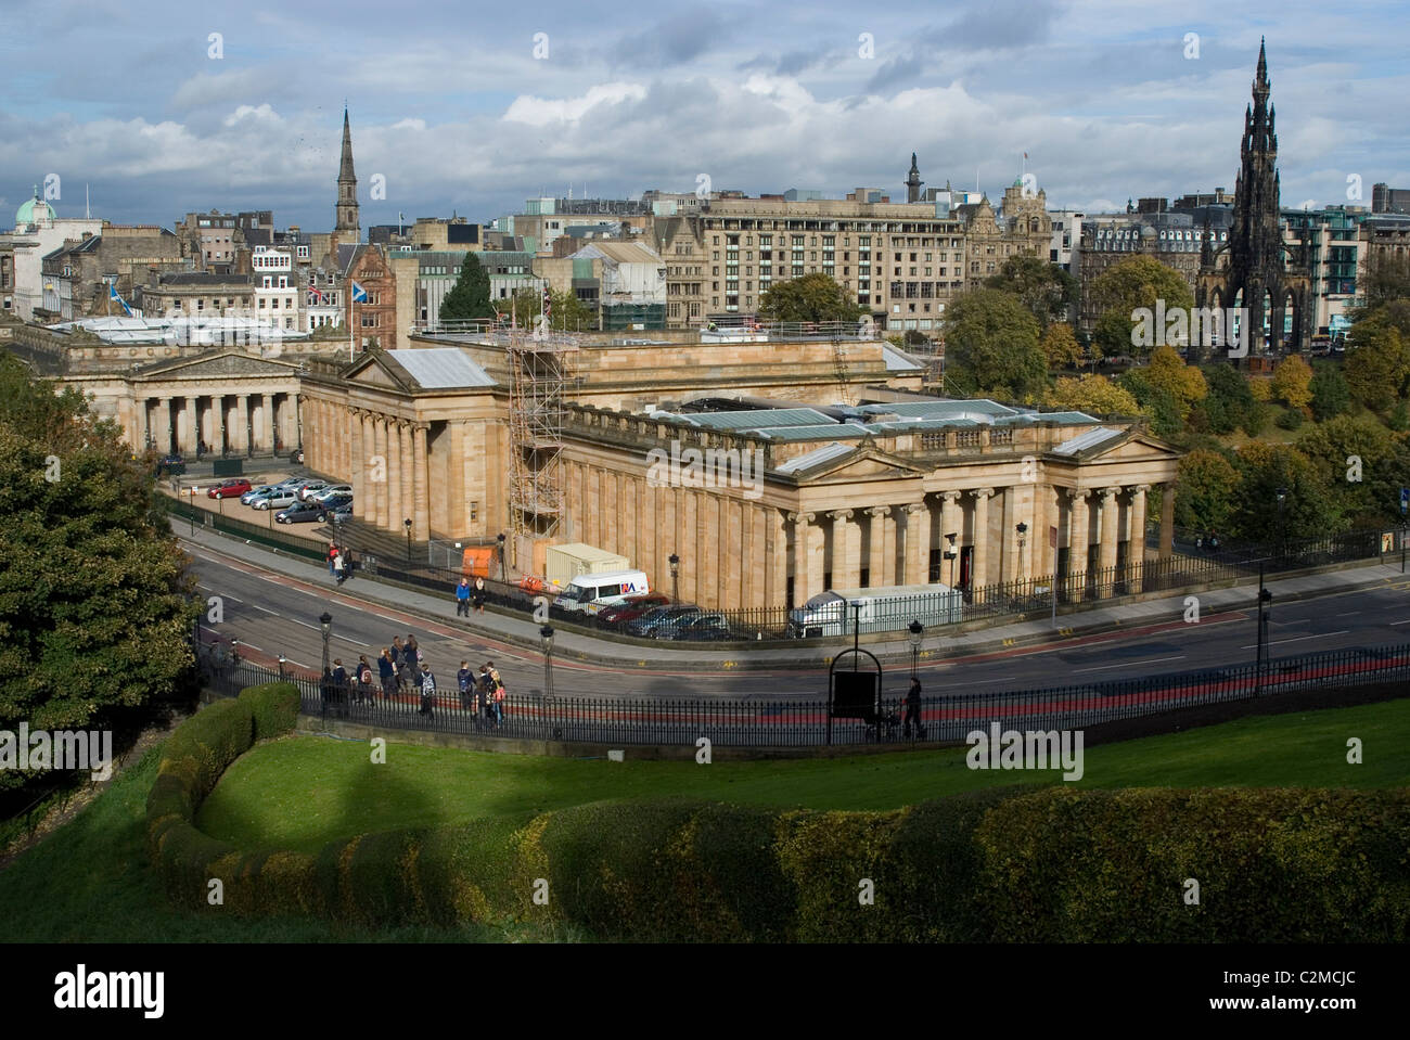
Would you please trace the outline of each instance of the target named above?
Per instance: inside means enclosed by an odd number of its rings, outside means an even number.
[[[563,392],[577,349],[577,338],[567,333],[516,328],[506,337],[509,523],[516,557],[527,544],[556,536],[564,519]]]

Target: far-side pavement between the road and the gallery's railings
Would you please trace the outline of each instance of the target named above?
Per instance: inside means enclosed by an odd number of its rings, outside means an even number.
[[[292,557],[274,548],[257,545],[244,538],[197,527],[190,533],[189,521],[172,519],[172,531],[183,543],[200,545],[210,552],[219,552],[252,567],[265,568],[299,581],[336,588],[327,567]],[[1301,574],[1270,579],[1266,588],[1273,593],[1273,603],[1287,603],[1318,596],[1330,596],[1362,589],[1385,588],[1387,582],[1407,582],[1410,575],[1400,572],[1399,559],[1392,564],[1363,561],[1341,569]],[[537,651],[540,648],[539,623],[529,616],[509,613],[486,606],[484,614],[472,614],[468,620],[455,617],[451,586],[444,596],[422,590],[405,589],[379,582],[375,576],[358,575],[338,589],[340,596],[362,600],[368,605],[420,614],[429,619],[462,627],[467,634],[498,640],[510,645]],[[1056,627],[1048,616],[1031,620],[1014,620],[984,629],[925,636],[921,643],[921,660],[935,661],[950,657],[971,657],[1015,647],[1060,644],[1067,640],[1090,638],[1101,633],[1118,633],[1124,637],[1139,636],[1142,631],[1160,631],[1180,627],[1186,623],[1191,593],[1156,595],[1142,600],[1127,600],[1107,606],[1072,609],[1059,606]],[[1198,599],[1201,619],[1210,619],[1228,612],[1256,609],[1258,579],[1248,578],[1239,583],[1193,593]],[[570,658],[611,668],[647,669],[701,669],[711,672],[826,668],[842,650],[850,650],[850,643],[840,640],[822,641],[777,641],[761,643],[759,647],[733,645],[691,645],[674,641],[603,638],[592,633],[572,631],[558,619],[553,620],[554,657]],[[894,637],[866,636],[862,645],[884,662],[909,662],[911,644],[905,633]]]

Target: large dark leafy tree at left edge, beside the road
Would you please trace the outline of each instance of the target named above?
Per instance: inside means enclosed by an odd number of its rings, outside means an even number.
[[[0,354],[0,729],[125,734],[180,689],[197,606],[154,488],[116,424]]]

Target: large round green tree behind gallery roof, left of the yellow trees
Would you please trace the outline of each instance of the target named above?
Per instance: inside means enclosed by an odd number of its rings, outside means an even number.
[[[945,309],[946,375],[976,393],[1031,399],[1048,383],[1038,321],[1011,295],[979,289]]]

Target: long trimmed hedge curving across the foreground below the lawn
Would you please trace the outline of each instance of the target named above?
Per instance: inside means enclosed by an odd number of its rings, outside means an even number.
[[[1015,786],[893,812],[684,799],[240,851],[193,826],[286,683],[168,741],[148,798],[169,896],[364,926],[574,922],[661,941],[1404,941],[1410,789]],[[1184,879],[1200,884],[1186,905]],[[870,902],[859,896],[870,882]]]

